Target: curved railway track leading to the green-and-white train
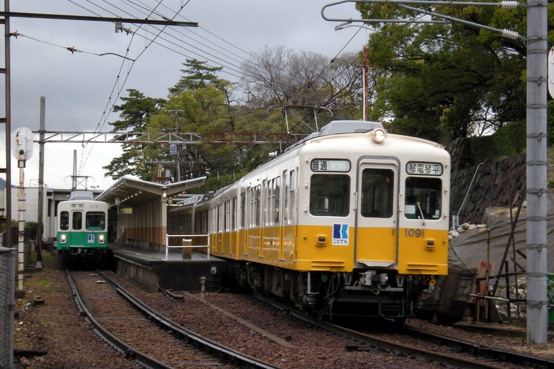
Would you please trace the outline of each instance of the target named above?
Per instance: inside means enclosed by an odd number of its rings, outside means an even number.
[[[126,358],[145,367],[275,368],[168,320],[99,271],[66,274],[81,315]]]

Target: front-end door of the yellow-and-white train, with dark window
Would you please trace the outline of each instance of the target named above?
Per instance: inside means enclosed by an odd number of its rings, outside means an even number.
[[[357,174],[355,261],[370,268],[398,263],[398,166],[363,160]]]

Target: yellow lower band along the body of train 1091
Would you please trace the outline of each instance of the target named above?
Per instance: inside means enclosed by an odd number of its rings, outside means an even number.
[[[398,233],[398,234],[397,234]],[[397,270],[400,274],[447,275],[448,232],[350,227],[347,242],[332,244],[332,229],[320,225],[265,227],[212,234],[212,254],[298,271]],[[446,240],[446,242],[444,241]]]

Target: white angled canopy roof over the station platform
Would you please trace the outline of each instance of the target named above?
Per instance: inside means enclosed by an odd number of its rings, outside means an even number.
[[[206,177],[198,177],[192,180],[164,184],[125,176],[99,194],[96,200],[107,202],[112,206],[132,207],[154,199],[180,196],[193,188],[202,186],[205,181]]]

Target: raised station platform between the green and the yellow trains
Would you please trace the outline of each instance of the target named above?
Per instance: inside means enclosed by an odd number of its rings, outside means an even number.
[[[170,249],[167,254],[120,243],[108,244],[109,268],[117,275],[149,293],[160,291],[201,291],[201,278],[206,278],[204,289],[215,292],[221,288],[227,262],[212,255],[188,249]]]

